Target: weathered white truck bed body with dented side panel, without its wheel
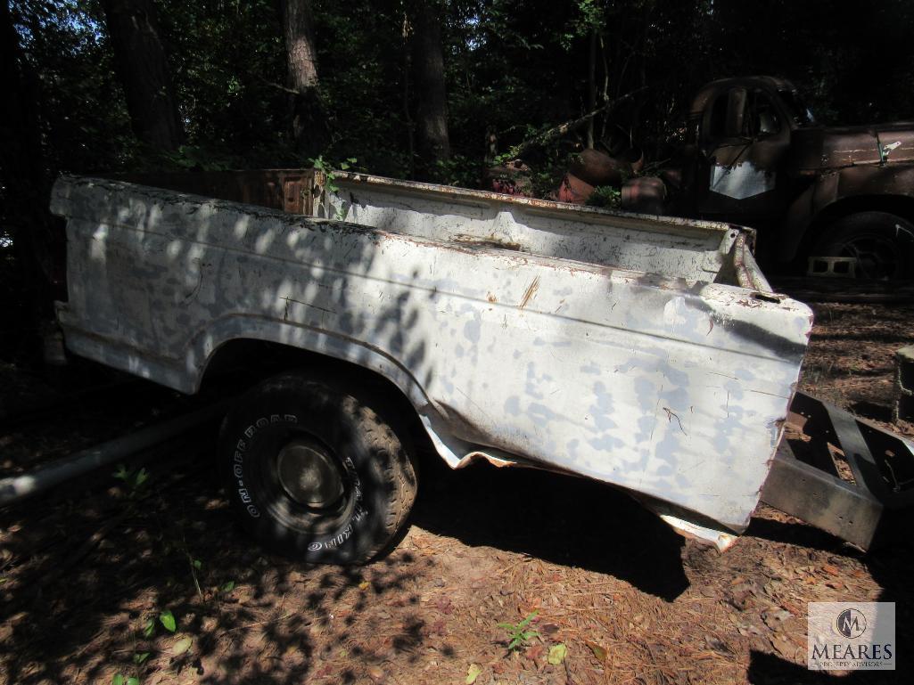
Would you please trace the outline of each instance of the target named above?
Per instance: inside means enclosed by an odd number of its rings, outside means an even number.
[[[334,183],[320,218],[61,178],[69,350],[186,393],[233,340],[330,355],[397,385],[452,467],[599,479],[721,548],[746,527],[812,314],[745,229]]]

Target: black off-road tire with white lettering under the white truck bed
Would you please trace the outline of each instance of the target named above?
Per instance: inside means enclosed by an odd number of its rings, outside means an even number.
[[[375,409],[303,374],[250,390],[226,417],[219,452],[242,526],[305,562],[367,562],[416,498],[414,462]]]

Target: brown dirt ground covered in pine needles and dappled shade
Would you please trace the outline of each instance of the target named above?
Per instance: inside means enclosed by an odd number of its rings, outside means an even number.
[[[887,425],[914,305],[815,312],[802,389]],[[0,427],[0,474],[186,404],[133,383],[27,412],[55,396],[0,365],[0,426],[17,416]],[[108,469],[0,512],[0,682],[911,682],[910,537],[865,555],[762,505],[717,553],[593,482],[427,460],[393,553],[306,566],[236,528],[211,433],[156,456],[139,488]],[[806,603],[847,600],[897,603],[898,671],[805,668]],[[537,636],[509,651],[498,624],[534,612]]]

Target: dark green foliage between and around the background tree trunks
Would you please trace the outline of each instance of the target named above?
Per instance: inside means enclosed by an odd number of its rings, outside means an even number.
[[[154,5],[186,132],[173,153],[136,142],[98,0],[11,0],[48,176],[303,165],[290,140],[277,4]],[[410,73],[410,6],[313,4],[318,98],[329,132],[318,159],[357,157],[372,173],[398,177],[417,168],[411,141],[422,94]],[[649,87],[628,108],[598,116],[597,138],[631,136],[650,159],[669,156],[696,89],[726,76],[793,79],[826,121],[885,121],[914,110],[914,5],[904,0],[866,12],[826,0],[447,0],[440,7],[452,156],[435,174],[451,184],[479,184],[487,164],[585,113],[592,37],[598,103]],[[491,136],[496,159],[486,161]],[[539,175],[537,194],[555,190],[564,156],[580,142],[581,132],[570,132],[525,154]]]

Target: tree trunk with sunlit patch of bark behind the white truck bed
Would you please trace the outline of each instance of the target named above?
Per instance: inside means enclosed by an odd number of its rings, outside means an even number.
[[[282,33],[291,96],[292,140],[295,149],[316,157],[326,142],[326,119],[317,79],[314,16],[311,0],[281,0]]]

